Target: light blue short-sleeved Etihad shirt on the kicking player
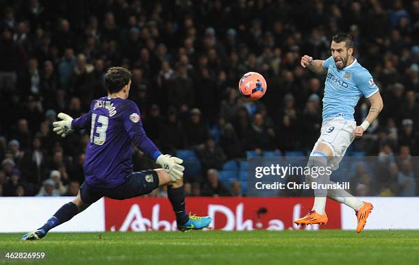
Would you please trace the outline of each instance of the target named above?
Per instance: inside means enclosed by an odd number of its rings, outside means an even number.
[[[323,97],[323,121],[342,116],[355,121],[353,114],[359,99],[371,97],[379,91],[368,70],[354,58],[352,64],[339,70],[333,57],[323,61],[327,71],[325,81],[325,97]]]

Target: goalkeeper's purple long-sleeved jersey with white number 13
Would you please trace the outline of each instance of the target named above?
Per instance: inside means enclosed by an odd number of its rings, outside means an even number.
[[[133,168],[133,144],[154,159],[161,154],[142,128],[138,106],[129,99],[96,99],[90,104],[90,112],[75,118],[71,126],[90,126],[84,175],[86,182],[97,188],[116,188],[125,183]]]

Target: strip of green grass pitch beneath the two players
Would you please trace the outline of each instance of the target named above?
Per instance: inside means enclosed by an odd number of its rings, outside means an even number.
[[[189,231],[0,234],[0,264],[419,264],[419,231]],[[7,260],[45,252],[43,260]]]

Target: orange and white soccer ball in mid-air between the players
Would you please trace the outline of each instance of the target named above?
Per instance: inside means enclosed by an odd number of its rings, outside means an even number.
[[[256,72],[245,73],[239,81],[239,91],[243,97],[251,100],[260,99],[266,93],[266,81]]]

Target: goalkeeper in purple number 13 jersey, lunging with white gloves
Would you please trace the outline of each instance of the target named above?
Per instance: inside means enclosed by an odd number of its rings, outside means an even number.
[[[127,99],[131,73],[123,67],[112,67],[105,74],[107,97],[92,101],[90,112],[73,119],[60,113],[62,121],[53,123],[53,130],[63,138],[76,129],[90,127],[86,148],[84,175],[77,197],[64,205],[45,225],[31,231],[22,240],[43,238],[49,230],[79,214],[102,197],[129,199],[148,194],[159,186],[167,186],[167,194],[181,231],[203,229],[211,223],[209,216],[188,216],[183,190],[183,162],[177,157],[162,155],[147,137],[137,105]],[[132,147],[147,153],[164,169],[132,172]]]

